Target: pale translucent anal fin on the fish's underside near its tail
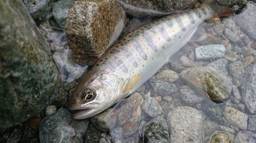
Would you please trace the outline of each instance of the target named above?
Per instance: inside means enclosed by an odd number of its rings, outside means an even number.
[[[203,32],[203,27],[198,26],[193,31],[193,34],[189,37],[189,40],[187,42],[198,42],[203,41],[207,38],[207,35]]]

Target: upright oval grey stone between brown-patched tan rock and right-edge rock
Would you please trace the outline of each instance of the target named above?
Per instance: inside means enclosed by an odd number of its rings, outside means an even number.
[[[240,87],[241,80],[244,75],[244,65],[241,62],[235,62],[228,64],[229,75],[232,78],[232,83],[237,87]]]

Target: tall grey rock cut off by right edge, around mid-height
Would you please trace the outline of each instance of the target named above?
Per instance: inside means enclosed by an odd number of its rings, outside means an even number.
[[[256,113],[256,64],[248,66],[242,78],[241,90],[242,99],[248,111]]]

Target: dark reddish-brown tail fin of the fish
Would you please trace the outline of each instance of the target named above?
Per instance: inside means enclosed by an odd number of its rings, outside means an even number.
[[[212,10],[214,10],[215,13],[211,18],[227,16],[234,13],[234,11],[228,6],[219,5],[212,0],[205,0],[204,3],[202,4],[202,7],[203,6],[209,6]]]

